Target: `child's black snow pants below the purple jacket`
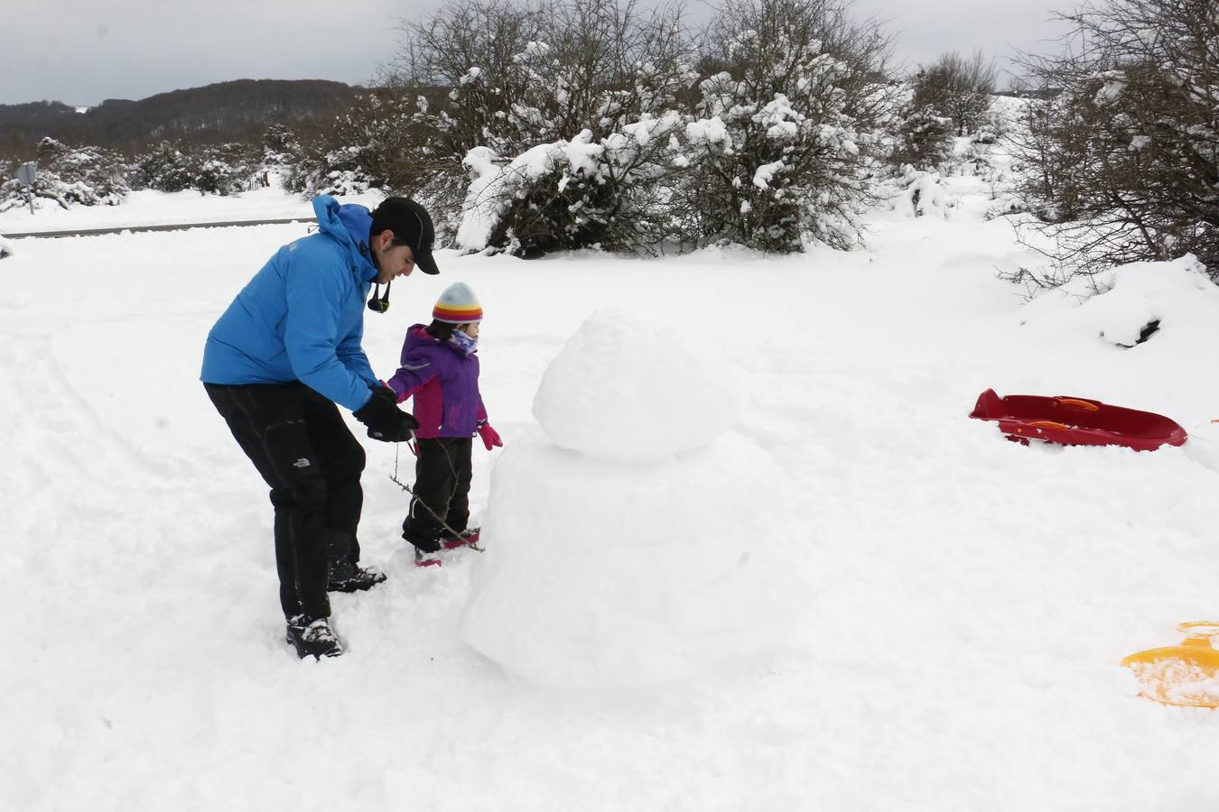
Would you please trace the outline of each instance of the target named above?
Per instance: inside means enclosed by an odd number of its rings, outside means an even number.
[[[402,522],[402,538],[434,550],[441,534],[450,530],[460,533],[469,523],[473,441],[469,437],[435,437],[419,439],[418,447],[414,498]]]

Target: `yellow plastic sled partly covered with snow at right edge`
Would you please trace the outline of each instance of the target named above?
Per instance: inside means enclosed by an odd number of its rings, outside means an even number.
[[[1140,696],[1162,705],[1219,707],[1219,622],[1193,621],[1176,628],[1185,632],[1179,645],[1131,654],[1121,661],[1142,683]]]

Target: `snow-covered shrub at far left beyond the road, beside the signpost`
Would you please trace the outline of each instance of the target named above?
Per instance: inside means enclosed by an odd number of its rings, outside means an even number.
[[[67,208],[117,206],[130,191],[127,167],[113,152],[94,146],[72,147],[51,138],[38,144],[38,179],[34,196],[54,200]],[[0,186],[0,211],[26,203],[26,187],[16,179]]]

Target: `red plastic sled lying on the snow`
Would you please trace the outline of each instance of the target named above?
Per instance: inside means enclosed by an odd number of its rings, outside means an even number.
[[[1153,452],[1165,443],[1180,446],[1187,435],[1175,421],[1151,411],[1137,411],[1087,398],[1009,394],[995,390],[978,396],[969,413],[978,420],[997,420],[1007,438],[1029,444],[1030,439],[1063,446],[1125,446]]]

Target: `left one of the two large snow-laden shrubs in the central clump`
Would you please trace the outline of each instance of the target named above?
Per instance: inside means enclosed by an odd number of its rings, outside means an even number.
[[[475,0],[408,34],[411,82],[451,88],[419,96],[413,121],[434,200],[472,172],[457,201],[461,245],[534,256],[662,239],[658,184],[675,169],[664,153],[680,124],[670,111],[695,78],[677,12]]]

